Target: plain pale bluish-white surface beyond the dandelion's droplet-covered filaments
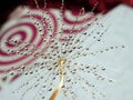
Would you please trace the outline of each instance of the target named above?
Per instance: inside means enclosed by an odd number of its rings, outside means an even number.
[[[109,89],[103,87],[106,97],[99,98],[99,100],[133,100],[133,9],[120,6],[109,12],[105,18],[108,18],[105,24],[111,23],[112,26],[103,37],[102,41],[105,42],[103,44],[101,43],[101,46],[124,44],[125,49],[100,54],[96,59],[96,62],[104,63],[109,69],[116,70],[113,76],[115,83]],[[96,47],[100,47],[100,44],[95,44],[93,48]],[[94,60],[92,60],[92,62]],[[20,100],[19,96],[12,97],[10,92],[23,80],[24,78],[20,78],[18,81],[3,89],[0,93],[0,99]],[[83,97],[81,98],[88,100]],[[62,100],[61,94],[57,100]]]

